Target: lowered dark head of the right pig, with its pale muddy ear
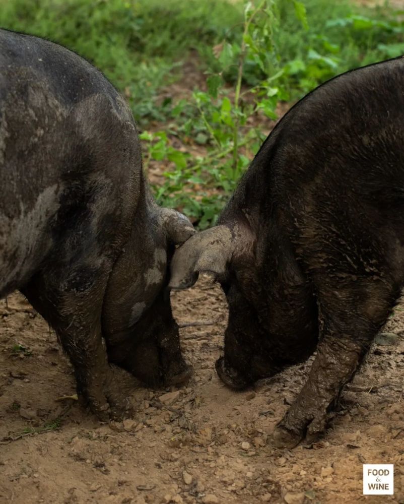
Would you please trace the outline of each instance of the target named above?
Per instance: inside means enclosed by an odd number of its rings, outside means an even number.
[[[171,264],[170,289],[188,288],[209,273],[226,294],[229,321],[216,370],[233,389],[305,360],[318,339],[311,288],[288,240],[271,228],[245,216],[222,219],[186,241]]]

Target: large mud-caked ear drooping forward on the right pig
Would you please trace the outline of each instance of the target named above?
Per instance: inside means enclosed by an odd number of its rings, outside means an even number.
[[[227,226],[216,226],[195,234],[175,251],[171,262],[169,289],[187,289],[200,272],[223,277],[234,251],[234,239]]]

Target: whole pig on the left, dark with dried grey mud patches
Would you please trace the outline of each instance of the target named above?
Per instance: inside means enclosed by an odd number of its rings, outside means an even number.
[[[192,225],[150,196],[136,125],[107,79],[68,49],[5,30],[0,180],[0,297],[20,289],[52,325],[91,409],[125,413],[108,360],[152,386],[185,380],[163,293]]]

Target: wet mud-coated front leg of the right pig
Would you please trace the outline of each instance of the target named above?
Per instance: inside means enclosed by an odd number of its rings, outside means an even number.
[[[320,293],[322,341],[306,384],[275,430],[277,446],[293,448],[324,430],[328,411],[386,321],[394,295],[380,283],[360,283]]]

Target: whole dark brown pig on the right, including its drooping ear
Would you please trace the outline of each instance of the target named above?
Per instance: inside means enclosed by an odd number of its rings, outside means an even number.
[[[240,389],[305,360],[275,431],[323,431],[404,285],[404,59],[343,74],[276,125],[223,211],[172,262],[171,288],[211,271],[229,324],[216,368]]]

